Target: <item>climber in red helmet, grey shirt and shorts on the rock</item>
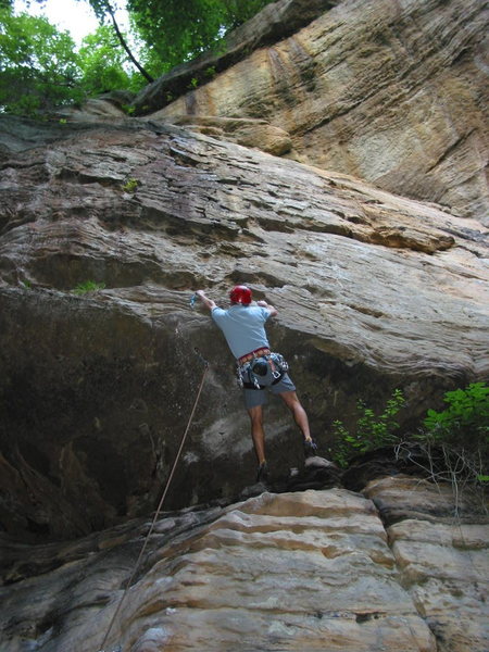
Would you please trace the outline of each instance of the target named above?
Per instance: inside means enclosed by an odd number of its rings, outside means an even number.
[[[278,353],[269,349],[265,322],[277,314],[277,310],[266,301],[252,302],[252,292],[247,286],[235,286],[230,293],[230,306],[218,308],[203,290],[196,294],[211,311],[211,316],[221,328],[227,344],[238,364],[238,380],[243,389],[244,405],[251,421],[251,437],[258,457],[260,482],[268,479],[265,456],[265,434],[263,429],[263,405],[266,404],[266,390],[278,394],[292,413],[303,436],[305,457],[316,454],[316,443],[311,437],[309,419],[301,405],[296,386],[287,374],[288,365]]]

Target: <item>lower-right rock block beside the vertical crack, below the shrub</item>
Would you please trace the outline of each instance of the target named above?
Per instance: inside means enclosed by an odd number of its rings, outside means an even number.
[[[484,652],[489,526],[487,516],[469,516],[463,493],[455,504],[457,489],[400,477],[375,480],[364,493],[380,512],[400,582],[435,634],[437,651]]]

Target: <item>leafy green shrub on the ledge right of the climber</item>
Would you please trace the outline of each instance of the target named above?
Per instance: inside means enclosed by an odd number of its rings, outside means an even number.
[[[394,421],[404,405],[401,390],[394,390],[379,416],[359,401],[360,417],[353,434],[340,421],[333,424],[337,438],[330,449],[333,459],[344,467],[355,454],[392,446],[397,459],[417,465],[435,482],[451,484],[455,515],[459,515],[464,490],[471,490],[476,500],[480,499],[480,506],[486,510],[489,387],[485,383],[473,383],[465,389],[446,392],[443,401],[446,410],[428,410],[423,427],[402,438],[396,432],[399,425]]]

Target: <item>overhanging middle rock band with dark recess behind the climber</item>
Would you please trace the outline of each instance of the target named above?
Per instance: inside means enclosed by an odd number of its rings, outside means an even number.
[[[351,177],[183,128],[3,118],[1,522],[80,536],[143,513],[211,363],[168,509],[235,497],[254,475],[234,362],[208,315],[249,284],[279,316],[319,447],[358,398],[403,389],[411,418],[489,371],[487,234]],[[35,147],[33,147],[35,146]],[[87,280],[105,289],[76,294]],[[406,418],[401,415],[401,419]],[[301,460],[278,402],[274,473]],[[190,481],[189,481],[190,478]],[[79,504],[85,505],[79,510]]]

